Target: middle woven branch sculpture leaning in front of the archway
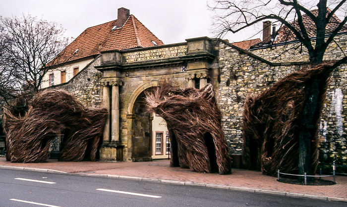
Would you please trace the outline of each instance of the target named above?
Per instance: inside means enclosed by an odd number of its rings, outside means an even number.
[[[171,140],[171,166],[196,172],[231,173],[231,157],[211,84],[174,88],[162,84],[146,94],[150,110],[167,122]]]

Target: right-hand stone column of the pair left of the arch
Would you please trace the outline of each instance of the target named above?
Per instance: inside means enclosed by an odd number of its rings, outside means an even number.
[[[111,109],[111,141],[119,142],[119,86],[121,82],[110,82],[112,85],[112,109]]]

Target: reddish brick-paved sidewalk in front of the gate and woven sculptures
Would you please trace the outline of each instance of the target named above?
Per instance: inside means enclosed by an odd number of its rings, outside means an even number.
[[[11,163],[0,157],[0,168],[108,176],[347,202],[347,176],[337,176],[335,185],[303,186],[281,183],[276,181],[276,177],[243,169],[233,168],[231,175],[197,173],[170,167],[167,159],[150,162],[59,162],[49,159],[44,163]]]

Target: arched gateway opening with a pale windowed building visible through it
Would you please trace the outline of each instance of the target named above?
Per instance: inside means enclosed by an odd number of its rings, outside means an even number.
[[[149,112],[145,103],[146,93],[155,89],[160,82],[155,80],[139,86],[128,103],[127,112],[131,114],[127,115],[128,129],[131,127],[128,135],[131,140],[128,140],[127,150],[131,152],[132,161],[149,161],[169,156],[170,136],[167,124],[158,114]]]

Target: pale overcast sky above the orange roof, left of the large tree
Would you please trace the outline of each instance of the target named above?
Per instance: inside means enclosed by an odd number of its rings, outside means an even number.
[[[130,9],[130,14],[165,44],[214,37],[210,31],[213,12],[206,0],[0,0],[0,15],[29,13],[61,24],[66,37],[77,38],[88,27],[117,19],[120,7]],[[243,41],[251,36],[250,32],[228,35],[225,39]]]

